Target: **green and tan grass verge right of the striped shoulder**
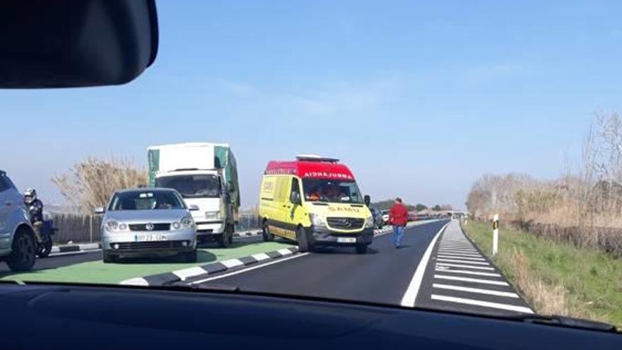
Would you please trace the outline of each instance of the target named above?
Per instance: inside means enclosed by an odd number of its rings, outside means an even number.
[[[489,223],[462,222],[465,233],[488,257]],[[517,231],[499,230],[499,269],[542,315],[567,315],[622,328],[622,259]]]

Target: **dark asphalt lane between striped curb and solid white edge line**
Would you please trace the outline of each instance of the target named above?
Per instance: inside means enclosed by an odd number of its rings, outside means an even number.
[[[365,255],[357,255],[353,248],[327,248],[205,284],[399,305],[423,253],[445,223],[407,228],[399,250],[392,245],[391,235],[382,235],[374,238]]]

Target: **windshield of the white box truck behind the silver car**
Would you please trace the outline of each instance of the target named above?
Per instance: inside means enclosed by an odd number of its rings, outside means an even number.
[[[184,198],[218,198],[221,183],[216,175],[175,175],[159,177],[156,187],[177,189]]]

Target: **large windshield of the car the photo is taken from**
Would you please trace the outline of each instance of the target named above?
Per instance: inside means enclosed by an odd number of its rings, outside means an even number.
[[[0,280],[622,327],[622,1],[156,2],[135,80],[0,89]],[[77,81],[142,71],[66,24]]]

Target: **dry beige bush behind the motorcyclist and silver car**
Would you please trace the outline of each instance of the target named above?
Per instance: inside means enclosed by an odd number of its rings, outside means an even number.
[[[148,182],[147,171],[136,168],[127,159],[105,161],[87,158],[68,173],[52,178],[65,199],[84,214],[105,206],[117,189],[138,187]]]

